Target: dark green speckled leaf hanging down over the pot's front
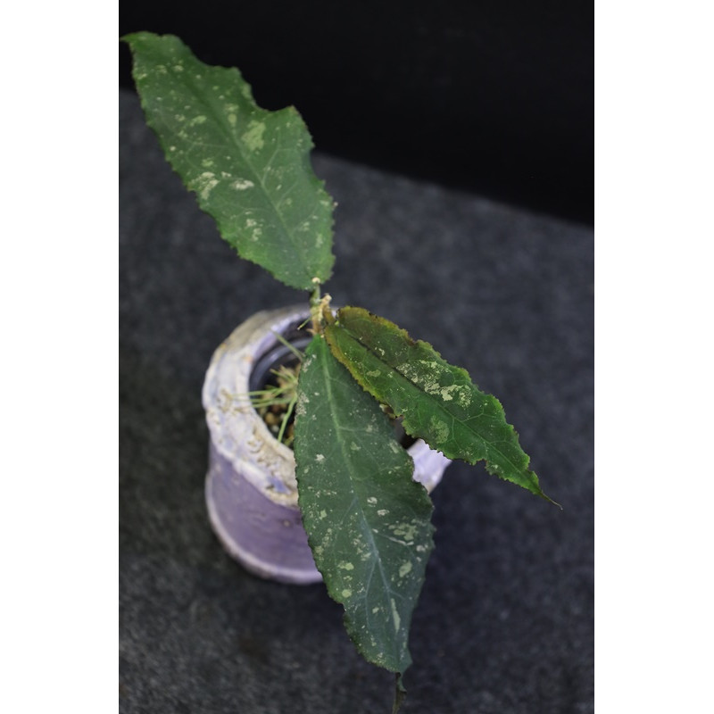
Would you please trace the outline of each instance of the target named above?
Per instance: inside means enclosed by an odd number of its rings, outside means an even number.
[[[307,347],[295,413],[299,504],[315,563],[345,605],[361,655],[403,673],[433,548],[427,491],[412,480],[411,457],[385,413],[321,336]]]

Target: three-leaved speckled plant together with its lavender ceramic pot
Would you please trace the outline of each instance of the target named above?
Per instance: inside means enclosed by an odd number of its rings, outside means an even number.
[[[294,582],[321,576],[345,607],[358,651],[395,673],[397,709],[433,548],[428,487],[449,460],[485,461],[495,476],[551,499],[501,403],[464,369],[385,318],[330,306],[322,289],[334,262],[335,204],[311,170],[311,137],[295,109],[262,110],[236,69],[200,62],[178,37],[124,39],[146,120],[221,237],[306,294],[299,308],[248,320],[214,354],[203,390],[213,526],[255,572]],[[433,452],[439,461],[419,474],[419,460]],[[236,490],[238,502],[258,493],[261,505],[232,518]],[[270,518],[266,498],[279,507]],[[275,535],[268,521],[303,538],[291,560],[302,559],[303,576],[290,562],[263,572],[266,560],[242,548],[262,530]],[[290,560],[291,547],[283,539],[268,551]]]

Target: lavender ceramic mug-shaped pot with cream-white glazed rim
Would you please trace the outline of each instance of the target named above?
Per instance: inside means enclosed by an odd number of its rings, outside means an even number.
[[[270,433],[247,394],[290,358],[276,333],[301,349],[310,341],[299,329],[309,314],[303,306],[256,313],[213,353],[203,383],[211,433],[205,493],[213,530],[245,569],[297,584],[322,577],[297,506],[295,456]],[[408,451],[415,480],[431,491],[451,461],[421,439]]]

